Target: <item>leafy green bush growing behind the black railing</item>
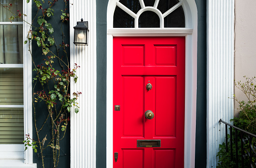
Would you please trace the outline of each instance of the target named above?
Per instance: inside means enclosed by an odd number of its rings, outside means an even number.
[[[238,102],[239,104],[239,116],[234,118],[230,121],[233,121],[233,125],[250,132],[256,135],[256,85],[254,84],[255,77],[247,78],[244,76],[245,82],[242,83],[241,81],[235,83],[235,86],[243,92],[243,94],[247,98],[247,102],[239,101],[237,97],[234,95],[233,99]],[[222,143],[219,145],[219,152],[217,153],[216,157],[218,157],[218,166],[216,168],[236,168],[235,164],[235,132],[232,129],[232,140],[230,139],[230,135],[227,136],[228,138],[228,152],[226,152],[226,144]],[[230,141],[233,142],[232,146],[232,154],[233,160],[231,160],[230,154]],[[252,139],[252,144],[255,143],[255,138]],[[240,132],[237,131],[237,146],[238,146],[238,168],[241,168],[241,139],[240,139]],[[244,149],[249,149],[249,143],[243,145]],[[245,155],[248,155],[246,151],[244,151]],[[252,162],[255,162],[255,158],[252,158]],[[244,166],[249,165],[249,158],[244,159]]]

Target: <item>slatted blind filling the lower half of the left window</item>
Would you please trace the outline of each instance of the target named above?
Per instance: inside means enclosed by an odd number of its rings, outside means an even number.
[[[23,142],[22,106],[23,68],[0,68],[0,144]]]

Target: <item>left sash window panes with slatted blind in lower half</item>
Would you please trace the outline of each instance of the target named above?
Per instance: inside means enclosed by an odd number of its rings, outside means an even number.
[[[23,0],[0,0],[17,13]],[[0,144],[23,144],[23,22],[0,6]]]

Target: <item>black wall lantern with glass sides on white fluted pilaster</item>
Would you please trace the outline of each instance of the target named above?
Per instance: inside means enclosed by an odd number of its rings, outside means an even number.
[[[88,21],[77,22],[77,25],[74,27],[75,35],[74,35],[74,44],[75,45],[88,45]]]

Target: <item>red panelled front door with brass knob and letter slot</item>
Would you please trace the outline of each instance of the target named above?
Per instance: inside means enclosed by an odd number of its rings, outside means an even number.
[[[185,37],[113,41],[114,168],[183,168]]]

